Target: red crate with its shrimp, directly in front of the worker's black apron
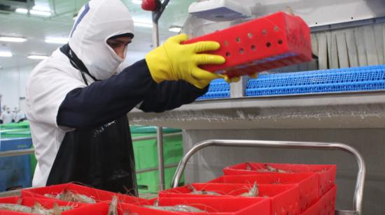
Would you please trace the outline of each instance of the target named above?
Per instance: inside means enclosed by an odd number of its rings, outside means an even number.
[[[96,188],[90,188],[88,186],[81,186],[72,183],[29,188],[22,190],[22,195],[34,198],[53,198],[67,202],[83,202],[86,204],[111,201],[114,195],[118,196],[120,202],[134,203],[144,200],[132,195],[102,191]]]

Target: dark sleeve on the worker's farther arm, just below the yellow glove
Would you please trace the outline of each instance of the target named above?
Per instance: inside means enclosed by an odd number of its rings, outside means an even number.
[[[192,103],[198,97],[206,94],[209,87],[199,89],[183,80],[176,82],[161,82],[156,90],[151,91],[144,99],[139,109],[144,112],[163,112],[181,105]]]

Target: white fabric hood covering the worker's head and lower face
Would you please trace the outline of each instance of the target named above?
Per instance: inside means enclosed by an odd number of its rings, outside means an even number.
[[[78,13],[69,36],[69,47],[92,76],[105,80],[116,74],[124,61],[106,41],[121,34],[134,36],[134,21],[122,1],[92,0]]]

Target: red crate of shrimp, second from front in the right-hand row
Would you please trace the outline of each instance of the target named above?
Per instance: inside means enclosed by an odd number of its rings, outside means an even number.
[[[297,184],[205,184],[196,183],[166,191],[160,191],[159,198],[268,198],[272,204],[272,214],[286,212],[300,213],[300,192]]]

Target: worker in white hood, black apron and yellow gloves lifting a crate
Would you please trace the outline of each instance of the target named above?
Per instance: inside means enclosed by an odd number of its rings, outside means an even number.
[[[31,72],[27,83],[37,166],[33,186],[69,181],[136,195],[134,152],[127,112],[163,112],[191,103],[219,75],[199,64],[223,64],[216,42],[181,45],[169,38],[146,59],[120,68],[134,22],[120,0],[92,0],[83,6],[69,44]]]

